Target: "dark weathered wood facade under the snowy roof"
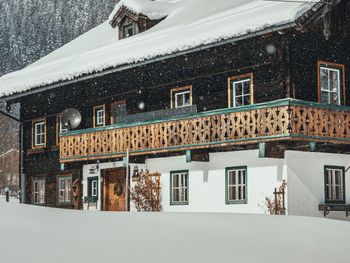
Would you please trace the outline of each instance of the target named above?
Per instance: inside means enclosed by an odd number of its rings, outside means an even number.
[[[57,114],[66,108],[78,109],[83,120],[78,129],[87,129],[93,127],[93,108],[97,105],[106,105],[108,111],[111,103],[124,100],[128,115],[168,109],[171,107],[172,88],[192,86],[193,104],[198,112],[224,109],[229,103],[228,79],[244,74],[253,75],[254,103],[284,98],[317,102],[319,61],[344,65],[346,89],[343,105],[350,106],[349,13],[348,1],[334,7],[328,39],[324,34],[324,20],[315,19],[299,30],[291,28],[267,33],[150,61],[122,71],[116,69],[70,84],[61,83],[60,87],[12,101],[21,103],[24,122],[27,200],[32,199],[33,177],[46,178],[45,204],[49,206],[59,206],[57,176],[71,174],[72,181],[81,177],[81,167],[86,162],[72,162],[65,165],[64,171],[61,169],[56,140]],[[142,109],[139,107],[141,102],[145,103]],[[46,120],[46,145],[33,149],[32,121],[37,118]],[[109,118],[106,124],[109,124]],[[290,147],[294,146],[295,143],[290,144]],[[348,144],[335,145],[332,151],[349,152],[350,149]]]

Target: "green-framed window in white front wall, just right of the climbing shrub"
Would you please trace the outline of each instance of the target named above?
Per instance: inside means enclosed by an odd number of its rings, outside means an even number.
[[[170,204],[188,205],[188,171],[170,172]]]

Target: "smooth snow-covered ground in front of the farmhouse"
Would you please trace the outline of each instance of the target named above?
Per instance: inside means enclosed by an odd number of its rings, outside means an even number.
[[[349,222],[58,210],[0,199],[1,262],[349,262]]]

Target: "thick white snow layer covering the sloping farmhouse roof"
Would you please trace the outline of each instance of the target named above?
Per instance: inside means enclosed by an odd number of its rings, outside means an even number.
[[[0,78],[0,97],[72,80],[108,68],[287,25],[320,0],[122,0],[151,17],[167,17],[151,29],[118,40],[110,19],[30,66]],[[153,15],[152,15],[153,14]]]

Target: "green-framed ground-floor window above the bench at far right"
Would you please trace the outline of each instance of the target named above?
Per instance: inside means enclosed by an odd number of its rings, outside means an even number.
[[[325,166],[325,202],[345,203],[345,168]]]

